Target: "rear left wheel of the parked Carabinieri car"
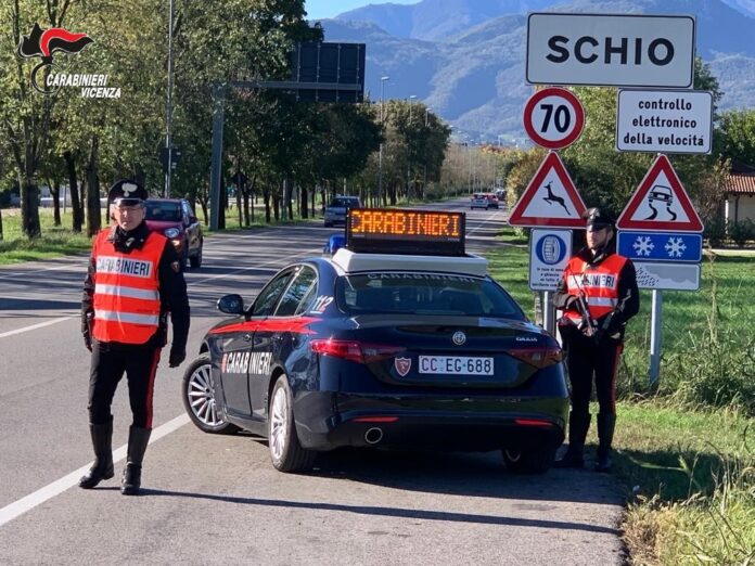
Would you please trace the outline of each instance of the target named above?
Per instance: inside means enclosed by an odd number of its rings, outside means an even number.
[[[268,447],[270,461],[279,472],[305,472],[312,467],[317,452],[305,450],[296,434],[294,403],[289,378],[280,375],[270,395]]]

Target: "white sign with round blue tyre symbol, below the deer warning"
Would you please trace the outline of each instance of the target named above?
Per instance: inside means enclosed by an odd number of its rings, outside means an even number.
[[[533,229],[529,234],[529,288],[555,291],[571,257],[571,230]]]

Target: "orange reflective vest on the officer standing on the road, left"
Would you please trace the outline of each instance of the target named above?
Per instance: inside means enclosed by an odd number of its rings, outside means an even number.
[[[165,236],[151,233],[141,249],[117,252],[111,229],[94,241],[92,336],[99,342],[145,344],[159,325],[159,259]]]

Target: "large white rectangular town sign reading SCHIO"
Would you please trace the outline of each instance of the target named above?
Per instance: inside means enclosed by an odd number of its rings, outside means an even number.
[[[532,13],[527,82],[690,88],[692,16]]]

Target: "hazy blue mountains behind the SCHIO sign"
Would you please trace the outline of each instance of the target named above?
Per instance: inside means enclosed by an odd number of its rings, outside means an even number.
[[[533,11],[692,14],[696,51],[718,78],[719,110],[754,107],[755,0],[423,0],[368,5],[322,22],[327,41],[367,43],[366,94],[417,95],[473,139],[524,141],[527,17]],[[383,85],[381,77],[388,76]]]

